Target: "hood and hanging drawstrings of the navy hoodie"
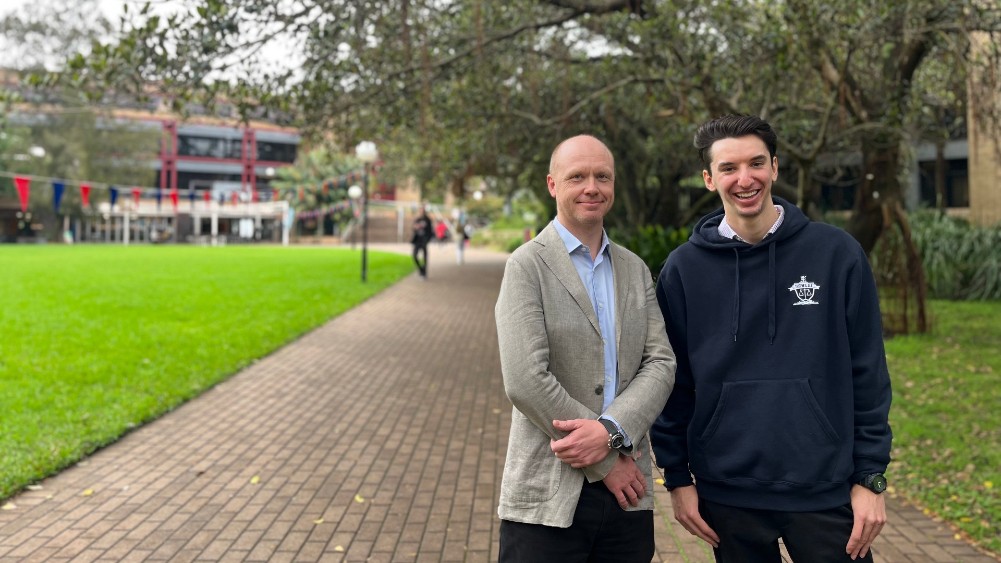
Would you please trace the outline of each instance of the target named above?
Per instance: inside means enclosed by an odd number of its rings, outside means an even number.
[[[692,231],[692,236],[689,237],[689,240],[700,248],[732,252],[734,255],[734,303],[733,316],[730,322],[730,333],[734,337],[734,342],[737,342],[737,333],[741,320],[741,253],[766,251],[766,249],[768,251],[768,337],[769,342],[774,343],[776,334],[775,292],[777,291],[775,287],[776,244],[795,235],[803,227],[810,224],[810,218],[796,205],[781,197],[773,196],[772,201],[774,204],[782,206],[782,225],[779,226],[778,230],[766,235],[765,238],[755,244],[725,238],[720,234],[720,223],[723,221],[724,215],[723,207],[699,219],[699,222],[695,225],[695,229]]]

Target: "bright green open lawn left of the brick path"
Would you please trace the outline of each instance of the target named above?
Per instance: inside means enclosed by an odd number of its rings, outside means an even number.
[[[278,246],[0,246],[0,499],[412,271]],[[335,343],[331,343],[335,346]]]

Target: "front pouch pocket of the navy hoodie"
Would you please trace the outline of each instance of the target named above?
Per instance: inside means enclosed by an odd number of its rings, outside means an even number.
[[[841,438],[806,379],[724,383],[700,442],[713,480],[811,485],[839,475]]]

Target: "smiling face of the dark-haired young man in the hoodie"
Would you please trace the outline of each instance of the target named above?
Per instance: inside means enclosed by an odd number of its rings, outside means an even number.
[[[777,218],[772,203],[772,183],[779,177],[779,158],[769,156],[765,142],[756,135],[727,137],[713,143],[712,163],[703,170],[706,187],[723,200],[727,221],[767,223]]]

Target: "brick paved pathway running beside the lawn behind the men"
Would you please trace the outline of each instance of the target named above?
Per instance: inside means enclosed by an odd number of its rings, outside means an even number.
[[[394,249],[399,249],[398,246]],[[10,499],[0,561],[492,561],[504,256],[415,275]],[[656,561],[707,562],[659,488]],[[899,501],[877,561],[994,562]]]

